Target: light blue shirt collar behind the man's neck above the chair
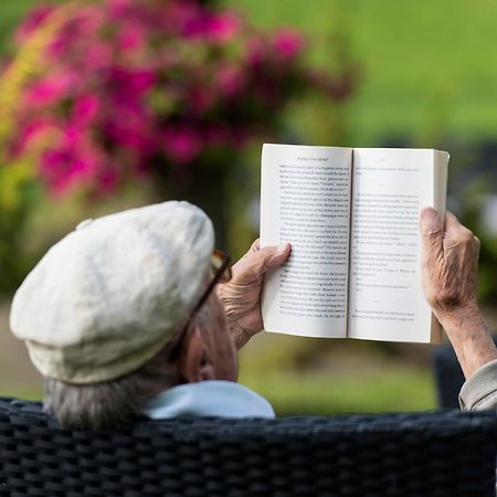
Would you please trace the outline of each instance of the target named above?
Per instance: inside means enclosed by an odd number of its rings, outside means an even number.
[[[232,381],[200,381],[165,390],[144,409],[151,420],[178,416],[275,417],[258,393]]]

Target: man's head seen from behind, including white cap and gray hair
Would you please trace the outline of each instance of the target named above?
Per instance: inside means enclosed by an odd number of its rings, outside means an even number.
[[[236,379],[213,242],[200,209],[165,202],[80,224],[28,275],[11,328],[63,424],[124,426],[168,387]]]

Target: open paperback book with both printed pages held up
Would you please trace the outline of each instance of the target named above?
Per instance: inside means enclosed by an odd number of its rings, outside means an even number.
[[[448,154],[264,145],[261,245],[292,243],[265,278],[266,331],[438,342],[421,286],[419,214],[445,212]]]

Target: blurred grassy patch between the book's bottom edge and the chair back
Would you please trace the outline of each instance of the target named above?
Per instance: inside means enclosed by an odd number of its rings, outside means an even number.
[[[431,348],[261,334],[240,353],[240,381],[278,414],[435,409]]]

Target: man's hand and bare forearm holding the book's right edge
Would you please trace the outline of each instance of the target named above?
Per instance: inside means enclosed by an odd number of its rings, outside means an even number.
[[[478,309],[479,241],[450,212],[431,208],[420,216],[424,295],[444,327],[466,378],[497,359],[497,349]]]

